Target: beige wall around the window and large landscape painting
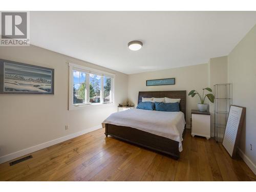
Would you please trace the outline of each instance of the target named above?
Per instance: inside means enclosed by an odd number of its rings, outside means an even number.
[[[0,157],[100,125],[126,102],[125,74],[35,46],[0,47],[0,58],[55,69],[54,95],[0,95]],[[68,111],[67,61],[116,74],[115,104]]]

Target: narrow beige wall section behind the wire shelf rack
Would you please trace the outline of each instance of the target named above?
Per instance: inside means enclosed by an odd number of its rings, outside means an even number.
[[[212,93],[214,93],[214,85],[215,84],[223,84],[227,83],[227,56],[223,57],[216,57],[216,58],[210,58],[208,62],[208,68],[209,68],[209,87],[212,89]],[[224,92],[224,87],[219,89],[219,92]],[[225,98],[225,96],[223,97]],[[219,100],[219,108],[220,106],[224,106],[225,100]],[[211,136],[214,136],[214,103],[209,102],[209,111],[211,114]],[[221,109],[219,111],[225,111],[224,109]],[[219,114],[219,123],[225,124],[226,122],[225,115]],[[220,130],[219,134],[223,135],[224,130]]]

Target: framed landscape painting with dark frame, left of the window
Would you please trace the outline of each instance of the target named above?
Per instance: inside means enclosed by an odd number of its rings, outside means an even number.
[[[54,69],[0,59],[0,94],[54,94]]]

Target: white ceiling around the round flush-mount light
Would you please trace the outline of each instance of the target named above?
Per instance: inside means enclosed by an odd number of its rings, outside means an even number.
[[[30,12],[31,44],[126,74],[228,55],[256,12]],[[131,51],[127,43],[141,40]]]

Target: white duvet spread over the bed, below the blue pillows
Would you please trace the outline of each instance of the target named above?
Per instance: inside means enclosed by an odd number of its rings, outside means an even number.
[[[130,126],[135,129],[166,137],[179,142],[182,151],[184,113],[131,109],[111,114],[103,123]]]

